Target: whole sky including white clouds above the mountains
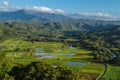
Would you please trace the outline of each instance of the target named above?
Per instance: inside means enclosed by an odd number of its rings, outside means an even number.
[[[120,0],[0,0],[0,9],[6,11],[27,9],[120,18]]]

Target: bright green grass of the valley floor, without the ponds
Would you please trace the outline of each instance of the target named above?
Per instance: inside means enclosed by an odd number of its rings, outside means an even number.
[[[93,60],[93,56],[91,55],[92,51],[89,51],[84,48],[70,48],[68,45],[57,42],[27,42],[27,41],[14,41],[14,40],[6,40],[0,44],[0,46],[7,47],[6,49],[11,49],[11,52],[6,52],[7,57],[10,57],[15,64],[28,64],[33,61],[39,61],[37,57],[31,57],[30,52],[22,51],[15,52],[14,48],[19,47],[20,49],[26,48],[42,48],[45,52],[52,54],[61,54],[52,59],[43,59],[46,63],[67,67],[69,69],[74,70],[78,73],[88,73],[88,74],[101,74],[104,70],[104,65],[92,63],[90,61]],[[74,56],[64,56],[65,54],[76,54]],[[15,56],[16,55],[16,56]],[[38,57],[39,58],[39,57]],[[86,62],[85,66],[78,65],[68,65],[66,62]]]

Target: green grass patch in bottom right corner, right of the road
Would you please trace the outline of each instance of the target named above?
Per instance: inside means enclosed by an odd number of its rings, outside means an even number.
[[[120,80],[120,66],[108,65],[104,80]]]

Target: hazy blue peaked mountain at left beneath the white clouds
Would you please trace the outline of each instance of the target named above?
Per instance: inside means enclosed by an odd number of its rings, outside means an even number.
[[[71,18],[55,13],[18,10],[12,12],[0,12],[0,20],[40,20],[40,21],[65,21]]]

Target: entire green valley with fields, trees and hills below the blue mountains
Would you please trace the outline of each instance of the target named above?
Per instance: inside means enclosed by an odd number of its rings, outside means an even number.
[[[94,80],[104,72],[106,63],[109,66],[102,79],[118,79],[120,26],[111,24],[112,28],[87,32],[75,25],[79,21],[0,22],[1,80]],[[34,75],[35,65],[45,70],[42,76],[44,71]],[[70,74],[65,75],[66,71]],[[110,77],[113,72],[116,76]]]

